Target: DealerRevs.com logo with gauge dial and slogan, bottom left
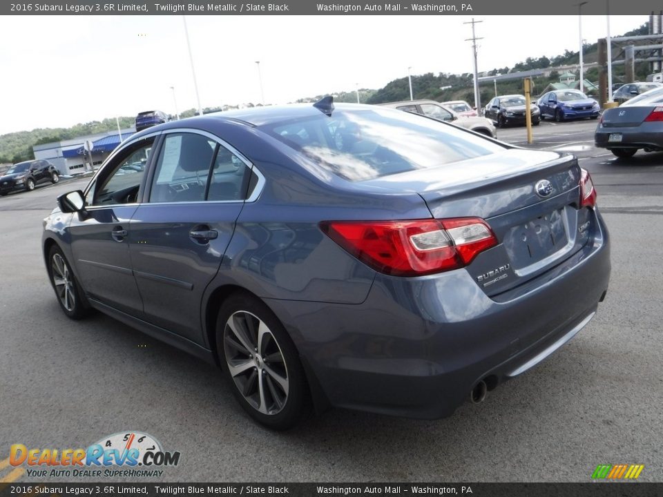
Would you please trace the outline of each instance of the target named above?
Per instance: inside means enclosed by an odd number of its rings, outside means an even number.
[[[149,477],[162,476],[163,467],[177,466],[180,452],[162,449],[147,433],[124,431],[103,437],[87,449],[10,447],[12,466],[27,465],[30,477]]]

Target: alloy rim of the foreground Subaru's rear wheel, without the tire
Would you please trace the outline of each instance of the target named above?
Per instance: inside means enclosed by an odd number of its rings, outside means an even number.
[[[237,311],[224,331],[226,364],[235,386],[253,409],[279,413],[289,393],[287,365],[281,348],[267,324],[247,311]]]

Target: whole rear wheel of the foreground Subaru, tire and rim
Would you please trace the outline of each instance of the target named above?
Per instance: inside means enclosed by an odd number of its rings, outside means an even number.
[[[310,413],[309,387],[297,349],[263,302],[248,293],[231,295],[219,309],[216,344],[224,376],[251,418],[285,430]]]

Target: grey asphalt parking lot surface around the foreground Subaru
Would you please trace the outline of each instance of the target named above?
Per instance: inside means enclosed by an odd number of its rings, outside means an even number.
[[[60,311],[41,220],[85,179],[0,198],[0,461],[14,443],[88,447],[137,430],[182,454],[160,481],[589,482],[620,463],[662,481],[663,153],[615,159],[593,147],[595,124],[544,121],[532,146],[575,153],[593,175],[612,236],[606,301],[551,358],[435,421],[336,409],[285,433],[259,427],[220,371],[104,315]],[[526,144],[524,128],[498,137]]]

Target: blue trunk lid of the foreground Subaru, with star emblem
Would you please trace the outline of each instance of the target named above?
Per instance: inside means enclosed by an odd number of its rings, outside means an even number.
[[[579,181],[573,155],[511,149],[371,183],[416,190],[436,219],[486,220],[499,244],[465,269],[495,295],[531,280],[586,243],[587,237],[578,235],[579,223],[589,218],[579,214]]]

